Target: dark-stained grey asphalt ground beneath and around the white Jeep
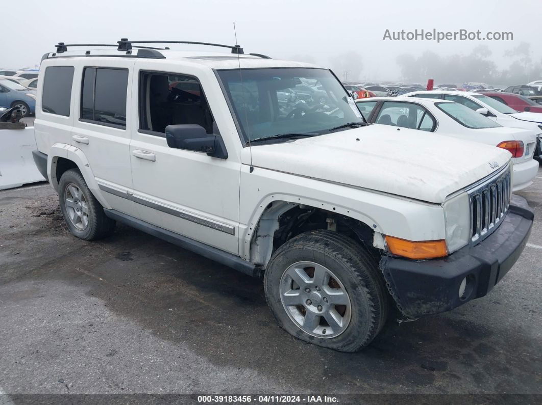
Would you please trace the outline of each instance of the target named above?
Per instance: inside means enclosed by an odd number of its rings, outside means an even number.
[[[279,329],[261,280],[124,225],[79,240],[48,184],[0,191],[0,394],[9,395],[0,403],[66,393],[541,394],[542,169],[518,194],[535,223],[491,293],[389,322],[345,354]]]

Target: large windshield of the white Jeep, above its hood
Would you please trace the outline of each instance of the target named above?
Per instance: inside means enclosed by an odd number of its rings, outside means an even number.
[[[353,99],[327,69],[219,70],[245,141],[284,134],[320,135],[362,122]]]

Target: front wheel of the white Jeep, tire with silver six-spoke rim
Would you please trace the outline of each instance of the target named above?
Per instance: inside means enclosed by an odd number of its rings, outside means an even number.
[[[269,261],[264,289],[280,327],[338,351],[367,346],[388,316],[378,263],[351,238],[327,230],[283,244]]]

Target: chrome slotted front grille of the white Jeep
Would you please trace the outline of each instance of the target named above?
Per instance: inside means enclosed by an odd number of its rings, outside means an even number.
[[[482,180],[467,190],[472,242],[489,236],[506,215],[512,194],[511,178],[511,166],[508,165],[498,175]]]

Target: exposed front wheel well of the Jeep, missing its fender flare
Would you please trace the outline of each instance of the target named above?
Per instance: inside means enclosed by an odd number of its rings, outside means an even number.
[[[264,210],[250,242],[250,261],[266,268],[269,258],[281,245],[309,230],[327,229],[362,244],[377,261],[379,249],[373,247],[374,232],[354,218],[321,208],[285,201],[270,203]]]

